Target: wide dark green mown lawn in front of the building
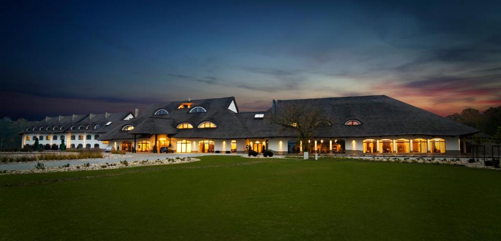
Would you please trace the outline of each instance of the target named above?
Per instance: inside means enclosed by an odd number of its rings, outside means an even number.
[[[501,238],[501,171],[204,156],[0,176],[2,240]]]

